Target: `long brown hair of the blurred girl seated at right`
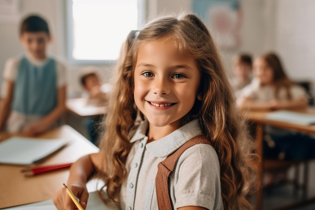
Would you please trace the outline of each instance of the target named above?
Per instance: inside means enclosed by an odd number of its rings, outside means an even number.
[[[294,83],[285,74],[283,65],[280,58],[274,52],[268,52],[261,56],[267,63],[267,65],[273,71],[273,84],[275,85],[275,97],[279,99],[279,92],[282,88],[286,91],[286,98],[292,99],[290,87]]]

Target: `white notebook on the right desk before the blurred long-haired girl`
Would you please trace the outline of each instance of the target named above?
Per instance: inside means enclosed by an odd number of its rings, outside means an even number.
[[[265,115],[266,119],[301,125],[315,124],[315,115],[279,110]]]

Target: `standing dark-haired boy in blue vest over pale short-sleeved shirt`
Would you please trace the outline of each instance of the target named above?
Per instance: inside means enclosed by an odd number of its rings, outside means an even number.
[[[0,129],[35,135],[55,126],[65,110],[65,66],[47,56],[51,35],[39,16],[25,18],[20,28],[25,56],[9,59],[4,70],[6,95]]]

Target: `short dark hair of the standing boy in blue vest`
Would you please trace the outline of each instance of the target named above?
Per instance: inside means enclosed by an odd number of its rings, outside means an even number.
[[[24,32],[45,32],[50,36],[48,23],[37,15],[28,16],[22,21],[20,35]]]

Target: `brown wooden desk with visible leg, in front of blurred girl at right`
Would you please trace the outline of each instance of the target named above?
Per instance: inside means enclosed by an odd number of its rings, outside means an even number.
[[[302,110],[294,110],[296,112],[300,113],[306,113],[306,114],[313,114],[315,115],[315,107],[308,107],[306,109]],[[257,179],[259,183],[259,189],[256,193],[256,210],[262,210],[263,209],[263,202],[262,202],[262,171],[263,171],[263,126],[264,125],[272,125],[279,128],[284,128],[296,132],[306,133],[306,134],[315,134],[315,125],[299,125],[299,124],[293,124],[289,122],[280,122],[280,121],[274,121],[265,119],[265,115],[270,113],[270,111],[243,111],[243,116],[251,121],[256,123],[256,144],[257,144],[257,154],[262,157],[261,164],[258,167],[258,174]]]

